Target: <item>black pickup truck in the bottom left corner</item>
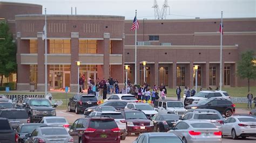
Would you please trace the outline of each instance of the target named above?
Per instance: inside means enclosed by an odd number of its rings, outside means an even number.
[[[8,119],[0,118],[0,142],[8,143],[8,142],[17,142],[18,134],[16,134],[15,130],[12,130],[12,127],[9,124]]]

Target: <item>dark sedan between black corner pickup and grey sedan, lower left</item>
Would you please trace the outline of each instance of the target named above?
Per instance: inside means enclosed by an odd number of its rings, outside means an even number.
[[[26,134],[32,133],[33,130],[35,130],[37,127],[41,126],[47,126],[46,124],[41,123],[29,123],[29,124],[21,124],[16,128],[16,131],[18,133],[18,142],[24,143],[27,137],[25,137]]]

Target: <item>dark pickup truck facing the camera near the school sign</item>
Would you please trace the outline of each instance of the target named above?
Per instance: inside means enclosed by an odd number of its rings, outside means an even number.
[[[22,104],[17,104],[17,108],[23,108],[29,115],[31,123],[38,121],[45,116],[56,116],[56,110],[46,98],[25,98]]]

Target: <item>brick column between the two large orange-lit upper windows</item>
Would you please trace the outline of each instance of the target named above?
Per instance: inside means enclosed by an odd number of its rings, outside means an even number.
[[[71,66],[70,66],[70,92],[77,92],[77,62],[79,61],[78,57],[78,45],[79,45],[79,33],[78,32],[71,32]],[[81,63],[83,64],[83,63]]]

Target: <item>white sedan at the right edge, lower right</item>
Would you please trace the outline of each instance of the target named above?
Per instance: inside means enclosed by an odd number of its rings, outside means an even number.
[[[256,119],[250,116],[231,116],[224,121],[223,135],[232,139],[256,137]]]

